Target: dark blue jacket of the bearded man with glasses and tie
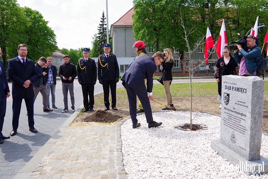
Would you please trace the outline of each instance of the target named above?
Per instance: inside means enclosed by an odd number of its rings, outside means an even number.
[[[35,63],[29,58],[25,59],[25,67],[18,58],[12,58],[8,61],[7,73],[9,79],[12,80],[12,98],[28,99],[35,97],[32,83],[37,78]],[[28,88],[24,88],[24,81],[30,80],[31,84]]]

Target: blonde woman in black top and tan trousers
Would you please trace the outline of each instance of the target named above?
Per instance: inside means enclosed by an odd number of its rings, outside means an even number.
[[[166,59],[164,61],[162,61],[162,63],[161,63],[162,67],[163,67],[162,79],[163,79],[163,85],[164,85],[165,91],[166,91],[167,105],[173,107],[172,96],[171,96],[171,93],[169,90],[169,85],[172,81],[171,69],[174,65],[174,59],[172,56],[171,49],[169,49],[169,48],[164,49],[164,53],[165,53]],[[171,109],[164,107],[162,110],[171,110]]]

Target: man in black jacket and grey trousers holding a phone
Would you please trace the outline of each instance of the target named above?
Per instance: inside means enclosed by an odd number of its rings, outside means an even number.
[[[63,102],[64,109],[61,113],[69,112],[68,110],[68,90],[71,97],[71,108],[72,112],[75,112],[74,109],[74,78],[77,76],[76,67],[74,64],[70,63],[69,55],[64,55],[64,64],[60,65],[59,77],[62,82],[62,93],[63,93]]]

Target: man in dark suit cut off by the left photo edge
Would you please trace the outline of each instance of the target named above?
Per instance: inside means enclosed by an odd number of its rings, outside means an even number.
[[[0,57],[1,56],[2,56],[2,50],[0,48]],[[2,134],[8,97],[10,97],[10,90],[7,84],[7,76],[4,69],[4,64],[0,60],[0,143],[4,143],[4,139],[10,138],[10,136],[4,136]]]

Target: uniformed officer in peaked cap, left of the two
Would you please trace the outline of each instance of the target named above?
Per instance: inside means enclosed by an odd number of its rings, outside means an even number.
[[[94,111],[94,85],[97,81],[97,67],[94,59],[89,58],[89,49],[84,48],[84,58],[79,59],[77,64],[77,78],[82,86],[83,103],[85,109],[83,112]],[[89,102],[88,102],[89,96]]]

